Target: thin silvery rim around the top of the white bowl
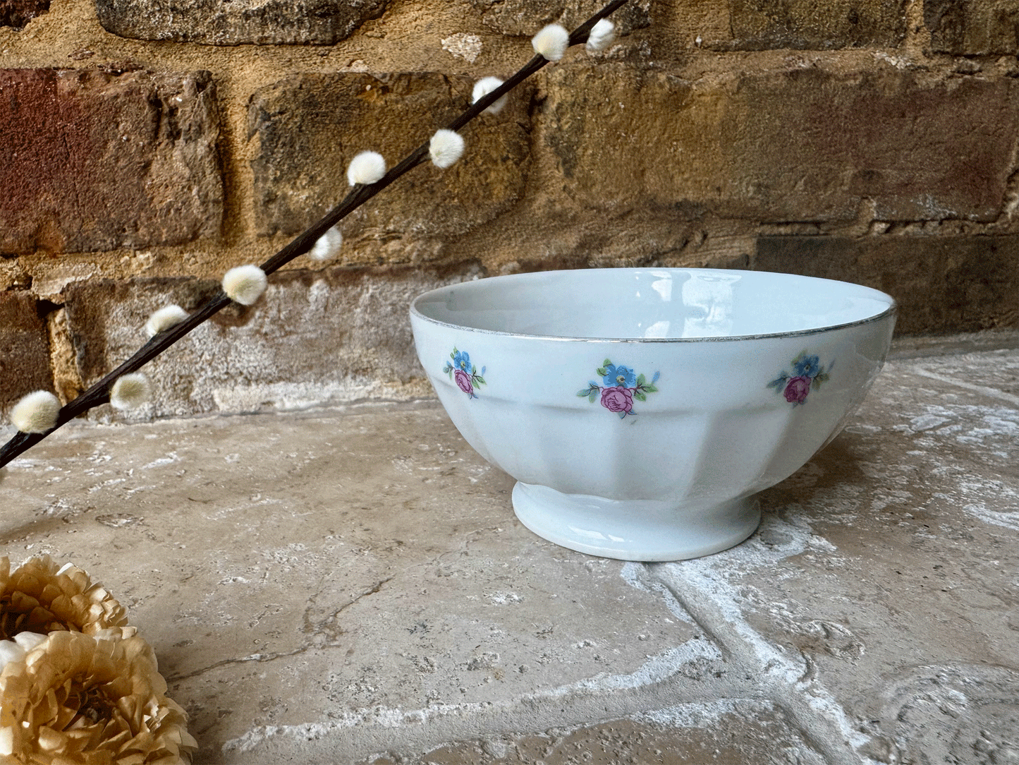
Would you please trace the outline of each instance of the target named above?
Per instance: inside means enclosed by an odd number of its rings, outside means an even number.
[[[856,319],[854,321],[845,321],[839,324],[825,324],[824,326],[815,326],[808,329],[792,329],[789,332],[777,332],[777,333],[760,333],[756,335],[725,335],[725,336],[712,336],[703,338],[583,338],[583,337],[571,337],[571,336],[560,336],[560,335],[533,335],[529,333],[512,333],[504,332],[502,329],[484,329],[477,326],[468,326],[467,324],[454,324],[449,321],[442,321],[440,319],[432,318],[431,316],[426,316],[422,313],[418,304],[432,297],[433,295],[440,293],[444,290],[448,290],[451,287],[459,287],[463,285],[477,284],[480,282],[488,282],[491,279],[502,280],[502,279],[513,279],[517,280],[522,277],[524,278],[536,278],[537,274],[552,274],[552,273],[579,273],[579,272],[594,272],[594,271],[620,271],[620,272],[689,272],[689,271],[699,271],[699,272],[718,272],[718,273],[739,273],[739,274],[762,274],[770,273],[777,274],[782,276],[795,276],[796,278],[807,279],[811,282],[827,282],[832,284],[848,285],[850,287],[855,287],[859,290],[865,290],[867,292],[873,293],[874,298],[883,298],[888,300],[889,306],[883,311],[876,313],[872,316],[866,316],[862,319]],[[835,278],[824,278],[822,276],[807,276],[800,273],[787,273],[785,271],[755,271],[746,268],[683,268],[683,267],[636,267],[636,268],[562,268],[553,269],[547,271],[525,271],[522,273],[506,273],[499,274],[496,276],[485,276],[483,278],[474,278],[467,282],[459,282],[452,285],[444,285],[443,287],[437,287],[428,292],[422,293],[411,301],[411,317],[417,317],[422,321],[429,324],[434,324],[436,326],[442,326],[449,329],[459,329],[461,332],[477,333],[479,335],[495,335],[507,338],[520,338],[524,340],[542,340],[542,341],[559,341],[567,343],[734,343],[739,341],[747,340],[765,340],[765,339],[780,339],[780,338],[802,338],[811,335],[820,335],[822,333],[833,332],[835,329],[846,329],[853,326],[861,326],[863,324],[869,324],[876,321],[881,321],[882,319],[894,316],[899,311],[899,304],[895,298],[893,298],[888,293],[881,292],[880,290],[875,290],[872,287],[867,287],[865,285],[858,285],[853,282],[845,282],[842,279]]]

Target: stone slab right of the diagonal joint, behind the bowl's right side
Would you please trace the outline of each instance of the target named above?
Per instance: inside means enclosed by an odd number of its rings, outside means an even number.
[[[823,688],[856,758],[1019,753],[1019,397],[997,388],[1017,361],[889,363],[855,422],[762,495],[756,538],[657,569],[688,608],[723,605],[708,631]]]

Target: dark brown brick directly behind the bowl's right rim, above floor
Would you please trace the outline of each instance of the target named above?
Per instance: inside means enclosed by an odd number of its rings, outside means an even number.
[[[762,237],[753,267],[873,287],[899,303],[896,332],[1019,326],[1019,237]]]

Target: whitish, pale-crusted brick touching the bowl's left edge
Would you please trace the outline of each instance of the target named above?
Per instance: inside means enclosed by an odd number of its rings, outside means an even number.
[[[423,268],[288,270],[254,306],[233,305],[150,362],[151,413],[257,411],[330,401],[429,395],[408,307],[462,274]],[[216,294],[212,279],[91,280],[65,288],[67,327],[88,386],[146,341],[149,315],[191,311]]]

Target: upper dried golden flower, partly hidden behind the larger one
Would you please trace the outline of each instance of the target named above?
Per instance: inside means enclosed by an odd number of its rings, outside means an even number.
[[[19,632],[93,634],[110,628],[132,630],[123,606],[81,568],[60,568],[42,555],[11,573],[10,561],[0,557],[0,640]]]

